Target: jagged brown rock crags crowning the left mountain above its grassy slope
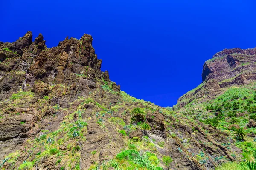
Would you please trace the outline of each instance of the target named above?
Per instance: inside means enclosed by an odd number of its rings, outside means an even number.
[[[19,89],[32,90],[40,96],[38,87],[75,84],[76,89],[84,90],[96,88],[102,79],[110,81],[108,71],[101,72],[102,60],[97,59],[92,41],[91,35],[84,34],[80,40],[67,37],[57,47],[47,48],[42,34],[32,42],[29,31],[15,42],[0,43],[0,90],[6,91],[0,94],[0,100]],[[8,77],[11,71],[12,80]],[[44,85],[35,85],[38,81]],[[113,83],[113,90],[120,91],[120,87]]]

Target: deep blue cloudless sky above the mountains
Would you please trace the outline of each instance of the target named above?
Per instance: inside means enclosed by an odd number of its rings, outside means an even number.
[[[256,46],[255,0],[52,1],[1,2],[0,41],[32,31],[53,47],[91,34],[102,71],[122,91],[160,106],[199,85],[216,52]]]

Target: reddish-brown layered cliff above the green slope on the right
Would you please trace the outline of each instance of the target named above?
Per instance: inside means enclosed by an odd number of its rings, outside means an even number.
[[[224,88],[245,85],[256,80],[256,48],[224,49],[203,65],[202,84],[178,99],[176,108],[204,97],[203,101],[215,98]]]

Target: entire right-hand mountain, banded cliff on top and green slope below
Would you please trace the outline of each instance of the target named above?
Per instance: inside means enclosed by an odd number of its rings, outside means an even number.
[[[227,133],[236,139],[234,145],[241,148],[243,159],[255,161],[255,75],[256,48],[225,49],[204,63],[203,82],[181,96],[174,109],[189,119]],[[236,137],[239,131],[243,132],[243,138]],[[234,166],[239,169],[241,164],[234,163]]]

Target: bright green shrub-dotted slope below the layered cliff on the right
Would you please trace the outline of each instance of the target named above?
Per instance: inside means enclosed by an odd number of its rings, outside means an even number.
[[[188,116],[192,121],[199,120],[227,133],[228,136],[236,139],[234,143],[236,147],[243,150],[243,159],[254,161],[256,159],[256,140],[247,134],[256,133],[256,129],[247,127],[247,124],[250,119],[256,120],[255,88],[256,83],[230,87],[216,99],[207,99],[203,102],[200,99],[195,99],[179,112]],[[230,150],[230,146],[225,146]],[[234,153],[231,156],[237,157]],[[217,158],[215,159],[217,160]],[[241,167],[239,163],[238,165]]]

